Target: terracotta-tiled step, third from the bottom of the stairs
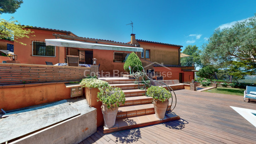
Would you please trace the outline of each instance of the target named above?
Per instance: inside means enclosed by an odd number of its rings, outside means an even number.
[[[151,104],[153,102],[152,97],[137,96],[137,97],[125,97],[125,103],[120,107],[126,107],[138,104]]]

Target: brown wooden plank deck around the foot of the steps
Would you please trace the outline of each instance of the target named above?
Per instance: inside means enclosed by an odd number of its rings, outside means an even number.
[[[247,103],[243,97],[186,89],[176,90],[174,112],[181,120],[137,129],[103,134],[103,128],[80,144],[114,143],[240,143],[256,144],[256,127],[231,107],[256,109],[256,101]]]

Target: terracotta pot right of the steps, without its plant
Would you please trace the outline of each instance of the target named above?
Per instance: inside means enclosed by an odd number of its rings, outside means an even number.
[[[164,102],[161,102],[158,99],[153,99],[153,103],[154,103],[156,117],[159,119],[164,119],[164,115],[168,107],[169,100],[166,99]]]

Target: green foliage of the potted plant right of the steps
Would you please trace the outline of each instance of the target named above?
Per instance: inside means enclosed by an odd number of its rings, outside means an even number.
[[[171,92],[164,87],[151,86],[147,89],[147,97],[152,97],[153,99],[164,102],[165,99],[171,98]]]

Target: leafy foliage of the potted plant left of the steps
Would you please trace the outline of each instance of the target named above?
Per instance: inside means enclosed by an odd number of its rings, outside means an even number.
[[[107,105],[107,108],[110,106],[119,107],[120,104],[124,104],[125,95],[124,92],[120,88],[116,87],[102,87],[99,88],[99,92],[97,94],[97,101],[101,101],[103,104]]]

